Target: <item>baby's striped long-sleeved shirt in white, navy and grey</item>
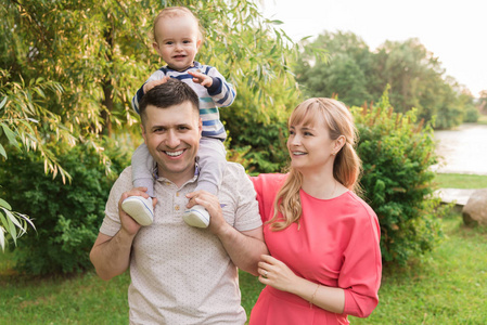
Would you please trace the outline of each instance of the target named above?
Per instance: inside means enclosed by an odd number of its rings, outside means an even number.
[[[212,77],[212,87],[206,88],[200,83],[193,82],[193,77],[188,74],[188,72],[192,70],[200,72]],[[228,83],[223,76],[221,76],[215,67],[202,65],[198,62],[194,62],[194,65],[184,72],[176,72],[168,66],[164,66],[152,74],[145,83],[149,81],[163,79],[165,76],[188,83],[196,92],[200,99],[200,117],[203,121],[202,136],[215,138],[221,141],[227,139],[227,132],[225,131],[223,123],[220,120],[218,107],[227,107],[233,103],[236,93],[232,84]],[[138,114],[139,102],[143,95],[144,91],[142,84],[132,99],[132,107]]]

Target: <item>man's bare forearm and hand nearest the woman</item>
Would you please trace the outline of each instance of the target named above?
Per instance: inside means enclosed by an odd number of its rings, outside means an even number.
[[[190,193],[188,197],[188,207],[202,205],[208,211],[212,217],[208,230],[220,239],[232,262],[239,269],[258,276],[260,255],[269,253],[264,243],[262,226],[239,232],[225,220],[218,197],[205,191]]]

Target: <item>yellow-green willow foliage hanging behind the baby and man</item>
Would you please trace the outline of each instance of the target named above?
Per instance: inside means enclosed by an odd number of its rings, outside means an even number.
[[[130,101],[164,65],[152,49],[151,28],[156,14],[172,5],[185,5],[200,17],[206,38],[196,60],[217,66],[238,90],[234,106],[223,116],[232,139],[230,156],[251,168],[270,170],[278,165],[279,157],[253,160],[256,152],[248,150],[248,143],[260,132],[267,142],[259,150],[279,145],[278,131],[272,136],[261,131],[281,120],[287,101],[297,96],[289,67],[296,49],[278,28],[280,22],[265,20],[254,1],[0,0],[0,4],[2,169],[10,164],[5,159],[21,150],[31,161],[41,159],[43,172],[57,182],[57,177],[69,180],[60,157],[74,153],[74,146],[89,150],[107,173],[112,146],[127,152],[136,147],[141,136]],[[10,196],[2,197],[1,208],[9,209],[9,202],[16,198],[11,197],[12,188],[3,190]],[[25,217],[25,210],[9,211],[2,219],[1,243],[4,233],[16,239],[15,221]],[[41,219],[51,217],[35,218],[43,224]],[[98,211],[97,218],[102,217]]]

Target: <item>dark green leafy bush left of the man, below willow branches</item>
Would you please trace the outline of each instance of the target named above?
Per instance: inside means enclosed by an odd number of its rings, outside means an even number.
[[[113,177],[126,158],[112,158],[111,177],[94,150],[77,145],[56,153],[59,162],[73,177],[44,173],[43,162],[33,153],[13,151],[2,162],[0,184],[16,211],[28,214],[37,227],[17,240],[16,268],[28,274],[71,273],[90,268],[89,251],[97,238]],[[123,162],[120,162],[123,161]],[[113,176],[113,177],[112,177]]]

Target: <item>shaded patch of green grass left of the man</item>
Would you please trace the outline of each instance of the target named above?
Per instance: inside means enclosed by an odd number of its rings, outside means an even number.
[[[128,324],[128,274],[38,278],[5,269],[0,252],[0,324]]]

